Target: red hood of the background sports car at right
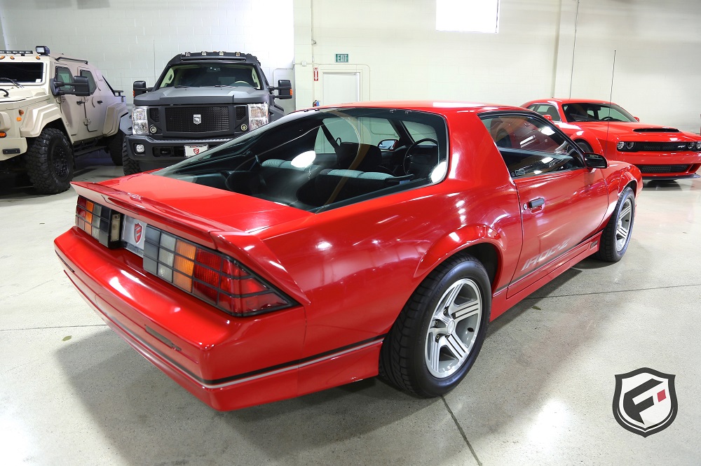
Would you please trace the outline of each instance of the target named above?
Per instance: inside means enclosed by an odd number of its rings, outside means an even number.
[[[655,142],[676,142],[676,141],[698,141],[699,136],[693,133],[679,131],[679,129],[647,125],[639,122],[576,122],[567,125],[569,128],[586,129],[596,132],[599,139],[618,138],[626,141],[655,141]]]

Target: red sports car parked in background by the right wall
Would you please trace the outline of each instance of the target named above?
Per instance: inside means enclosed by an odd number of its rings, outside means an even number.
[[[634,164],[644,178],[698,178],[701,136],[646,125],[616,104],[599,100],[540,99],[522,107],[550,119],[585,152]]]

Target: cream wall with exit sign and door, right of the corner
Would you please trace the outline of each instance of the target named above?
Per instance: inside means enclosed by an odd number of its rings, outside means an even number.
[[[608,99],[617,50],[613,101],[699,131],[699,0],[501,0],[498,34],[436,31],[435,0],[294,0],[294,19],[298,108],[322,100],[315,67],[361,71],[365,100]]]

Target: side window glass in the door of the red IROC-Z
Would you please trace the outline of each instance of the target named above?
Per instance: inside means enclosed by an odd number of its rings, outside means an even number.
[[[513,178],[584,167],[573,143],[531,115],[485,115],[482,122]]]

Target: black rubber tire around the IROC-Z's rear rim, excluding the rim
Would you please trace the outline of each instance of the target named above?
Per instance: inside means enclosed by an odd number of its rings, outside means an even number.
[[[434,376],[426,360],[427,337],[435,327],[435,311],[446,293],[457,283],[476,285],[481,299],[481,320],[465,359],[454,372]],[[448,393],[468,373],[482,348],[491,311],[491,285],[484,266],[475,257],[451,257],[437,267],[416,288],[385,338],[379,360],[380,376],[390,384],[420,397]]]

